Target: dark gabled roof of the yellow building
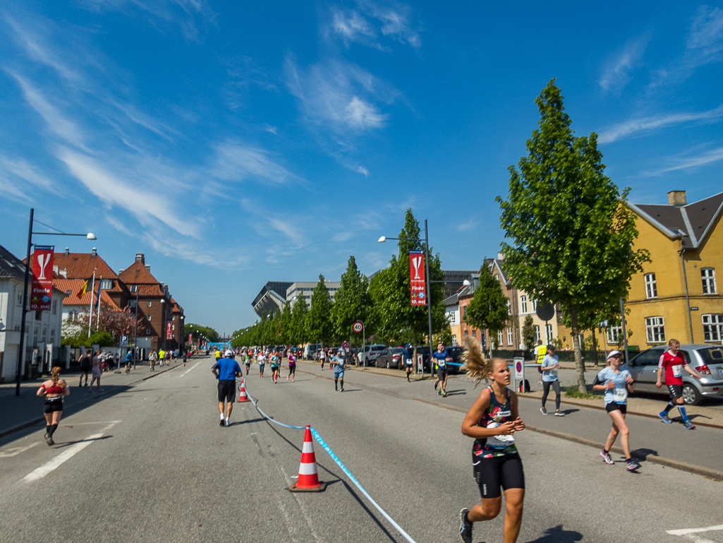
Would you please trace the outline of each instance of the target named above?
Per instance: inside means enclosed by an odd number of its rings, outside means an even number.
[[[723,193],[685,206],[628,202],[628,207],[668,237],[682,237],[683,245],[697,248],[723,211]]]

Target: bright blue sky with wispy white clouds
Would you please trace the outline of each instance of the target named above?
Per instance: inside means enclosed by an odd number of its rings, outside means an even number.
[[[219,332],[269,280],[384,266],[408,207],[476,269],[552,77],[631,201],[723,190],[720,5],[576,4],[6,0],[0,243],[35,207]]]

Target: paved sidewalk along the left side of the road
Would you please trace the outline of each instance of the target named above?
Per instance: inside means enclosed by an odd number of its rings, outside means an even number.
[[[205,358],[190,358],[188,364],[190,366]],[[171,363],[171,366],[163,366],[163,368],[156,364],[155,370],[150,371],[150,366],[146,361],[139,363],[135,369],[126,374],[121,366],[121,373],[114,373],[113,371],[103,373],[100,378],[100,390],[102,392],[96,392],[95,386],[93,392],[88,392],[90,387],[78,387],[80,371],[63,371],[61,377],[67,381],[70,387],[70,394],[63,400],[64,411],[74,411],[77,408],[82,408],[89,402],[98,401],[105,396],[127,390],[128,387],[143,379],[149,379],[179,367],[183,368],[182,361]],[[88,384],[90,384],[91,378],[88,378]],[[2,413],[2,416],[0,416],[0,437],[45,421],[43,399],[38,397],[36,393],[40,388],[40,384],[46,379],[47,377],[39,377],[38,379],[20,382],[20,396],[15,395],[16,385],[14,382],[0,384],[0,413]]]

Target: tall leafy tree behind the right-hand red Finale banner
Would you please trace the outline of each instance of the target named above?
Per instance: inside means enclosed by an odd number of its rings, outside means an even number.
[[[389,267],[372,279],[369,292],[372,295],[372,321],[377,336],[389,342],[406,341],[416,345],[429,332],[427,306],[412,306],[410,303],[409,251],[422,251],[424,244],[419,240],[422,231],[414,218],[411,208],[404,216],[404,227],[399,232],[399,253],[392,256]],[[444,272],[439,254],[429,248],[429,275],[432,298],[432,334],[440,334],[449,327],[444,306]],[[430,338],[431,339],[431,338]]]

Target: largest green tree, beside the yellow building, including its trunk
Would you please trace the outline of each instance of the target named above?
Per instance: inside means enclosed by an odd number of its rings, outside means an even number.
[[[536,98],[539,128],[527,140],[529,156],[510,166],[508,200],[497,197],[505,266],[515,286],[570,313],[578,388],[586,392],[578,332],[581,308],[625,297],[630,278],[649,259],[633,251],[635,216],[604,174],[597,135],[576,138],[555,80]]]

